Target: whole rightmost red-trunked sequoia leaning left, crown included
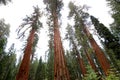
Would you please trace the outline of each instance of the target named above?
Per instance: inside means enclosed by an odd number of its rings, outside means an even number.
[[[85,25],[88,14],[82,11],[83,8],[77,7],[73,3],[70,3],[69,7],[71,10],[69,16],[74,17],[75,27],[80,27],[79,30],[82,29],[82,33],[86,34],[104,74],[107,75],[107,72],[110,69],[109,62]]]

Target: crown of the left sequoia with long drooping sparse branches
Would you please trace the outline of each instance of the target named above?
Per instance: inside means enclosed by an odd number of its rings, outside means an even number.
[[[34,12],[30,16],[26,16],[23,19],[23,23],[17,29],[17,33],[19,35],[18,38],[24,38],[25,33],[27,30],[31,31],[34,29],[36,32],[39,32],[39,28],[42,27],[42,23],[40,22],[39,18],[42,16],[42,12],[40,12],[39,7],[34,7]]]

